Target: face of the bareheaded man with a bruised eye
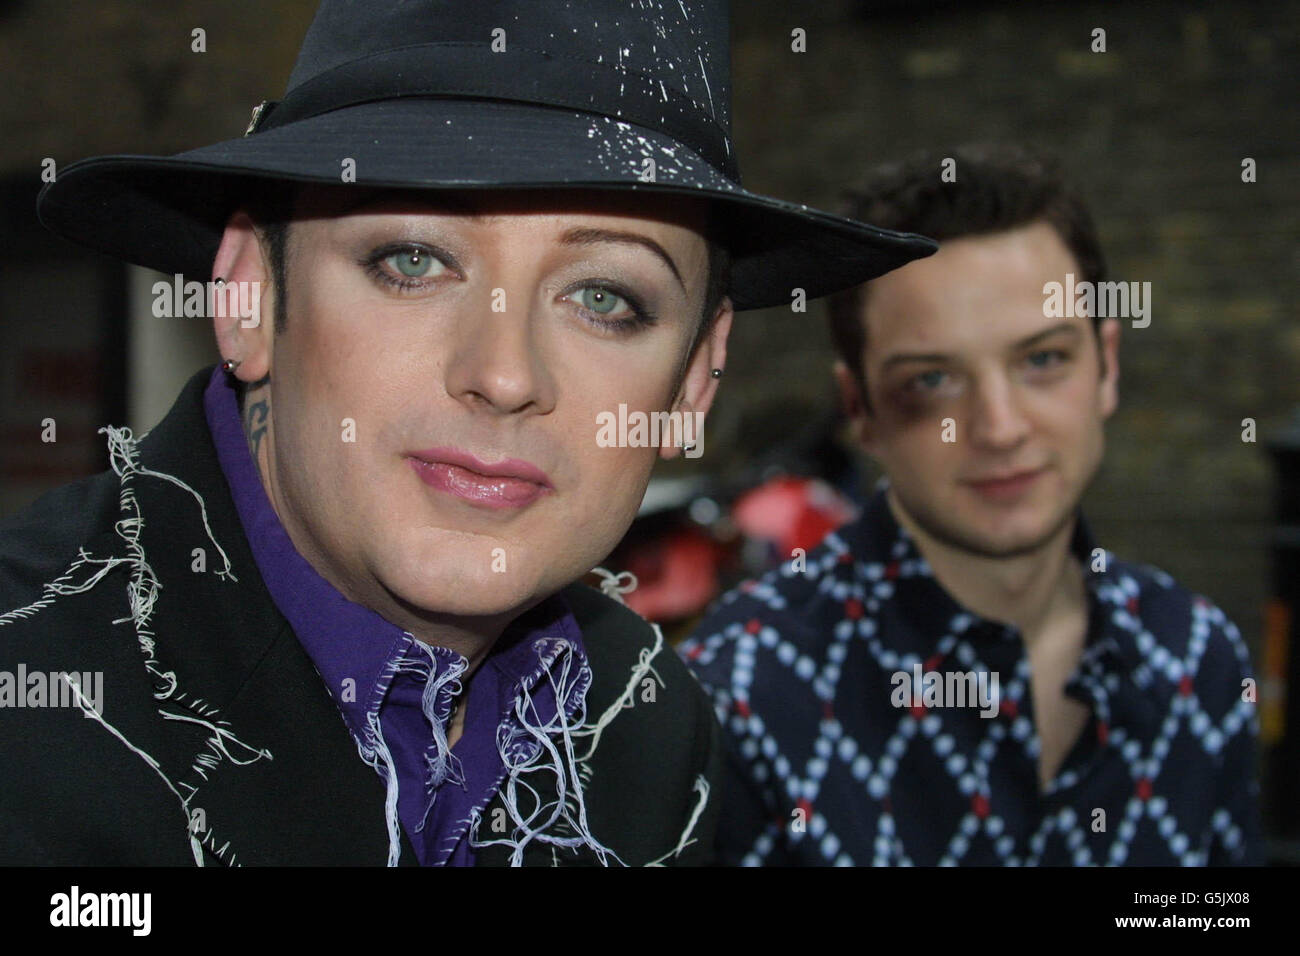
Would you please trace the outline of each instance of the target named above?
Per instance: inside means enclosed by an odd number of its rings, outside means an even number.
[[[1119,324],[1101,326],[1102,378],[1092,320],[1044,316],[1044,284],[1067,272],[1078,264],[1039,222],[945,242],[868,285],[862,441],[896,503],[950,546],[1041,548],[1101,463]]]

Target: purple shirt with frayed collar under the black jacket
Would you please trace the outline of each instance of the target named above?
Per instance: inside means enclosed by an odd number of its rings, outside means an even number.
[[[472,675],[464,732],[448,752],[465,658],[348,601],[298,553],[266,498],[235,389],[220,365],[204,411],[266,591],[325,680],[361,758],[387,786],[389,865],[400,853],[398,822],[421,865],[472,865],[471,822],[506,779],[506,761],[517,766],[538,747],[529,727],[581,722],[590,667],[572,611],[555,594],[506,628]],[[558,697],[563,722],[554,719]]]

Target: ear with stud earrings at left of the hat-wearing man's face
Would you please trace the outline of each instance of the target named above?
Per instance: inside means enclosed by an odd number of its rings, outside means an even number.
[[[235,359],[235,377],[246,382],[261,381],[270,373],[274,338],[274,303],[270,287],[270,263],[261,252],[261,242],[248,213],[238,209],[226,222],[226,230],[212,261],[212,277],[225,282],[216,295],[225,307],[214,308],[213,330],[222,358]],[[247,285],[239,285],[247,284]],[[238,303],[251,306],[240,313]]]

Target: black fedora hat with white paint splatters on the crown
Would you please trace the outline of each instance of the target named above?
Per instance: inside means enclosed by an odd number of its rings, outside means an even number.
[[[277,181],[702,196],[716,200],[737,310],[933,252],[741,187],[728,33],[725,0],[324,0],[283,99],[243,137],[82,160],[38,211],[75,242],[207,278],[230,213]]]

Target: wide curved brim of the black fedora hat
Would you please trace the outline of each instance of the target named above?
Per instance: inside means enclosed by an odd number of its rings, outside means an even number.
[[[74,242],[207,280],[230,213],[268,181],[361,187],[621,189],[715,202],[737,310],[790,304],[931,255],[931,239],[749,193],[671,137],[594,113],[404,98],[363,103],[178,156],[62,170],[38,212]],[[646,160],[653,160],[653,181]]]

